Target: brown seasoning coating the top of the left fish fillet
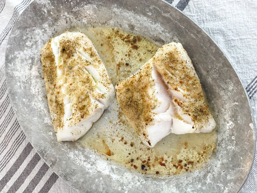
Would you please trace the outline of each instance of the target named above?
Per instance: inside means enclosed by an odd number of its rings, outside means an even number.
[[[97,84],[101,83],[109,91],[113,88],[104,63],[100,59],[91,41],[83,33],[69,33],[59,37],[59,63],[55,62],[55,55],[51,48],[50,39],[41,50],[44,81],[46,85],[48,106],[51,112],[55,130],[63,127],[64,99],[71,100],[72,118],[69,127],[76,125],[89,116],[98,106],[93,99],[103,99],[105,93],[97,92]],[[87,66],[99,73],[92,75]],[[57,68],[63,70],[57,77]],[[95,77],[97,80],[95,80]],[[68,94],[63,94],[63,87]]]

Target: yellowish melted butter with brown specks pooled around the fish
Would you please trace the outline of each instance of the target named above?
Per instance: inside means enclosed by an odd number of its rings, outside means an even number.
[[[135,74],[160,48],[146,38],[119,29],[88,28],[84,33],[93,42],[115,85]],[[155,79],[159,76],[153,74]],[[157,84],[162,85],[161,82]],[[169,85],[160,87],[160,91],[168,88]],[[164,111],[168,106],[164,104]],[[158,110],[156,112],[162,109]],[[210,160],[216,147],[216,130],[199,134],[171,133],[150,148],[142,143],[114,98],[102,117],[78,142],[130,170],[157,176],[175,175],[193,172]]]

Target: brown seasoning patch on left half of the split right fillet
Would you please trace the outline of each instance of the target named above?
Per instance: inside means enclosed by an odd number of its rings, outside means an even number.
[[[152,65],[148,61],[140,71],[116,86],[117,99],[129,124],[143,141],[148,141],[147,125],[152,124],[157,98],[154,93],[155,80]],[[143,135],[142,135],[143,134]]]

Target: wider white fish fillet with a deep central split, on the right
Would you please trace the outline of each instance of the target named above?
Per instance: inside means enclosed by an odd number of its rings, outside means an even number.
[[[116,86],[116,93],[130,125],[150,147],[170,133],[206,133],[216,126],[180,43],[158,49],[141,69]]]

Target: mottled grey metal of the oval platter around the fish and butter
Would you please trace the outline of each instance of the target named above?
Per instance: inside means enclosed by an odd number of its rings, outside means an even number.
[[[85,17],[86,16],[86,17]],[[40,50],[66,30],[119,27],[164,44],[180,42],[191,57],[218,124],[217,148],[202,170],[152,178],[105,161],[79,143],[57,143],[48,112]],[[15,24],[6,79],[24,133],[45,162],[81,192],[231,192],[247,178],[255,152],[251,109],[222,51],[195,23],[159,0],[36,0]]]

